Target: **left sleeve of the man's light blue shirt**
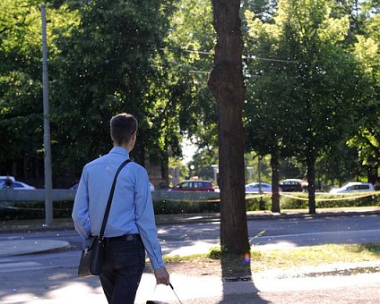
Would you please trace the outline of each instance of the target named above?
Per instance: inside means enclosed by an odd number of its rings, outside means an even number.
[[[89,217],[89,194],[87,183],[85,181],[85,169],[83,169],[81,180],[76,190],[73,202],[73,225],[75,230],[80,234],[83,240],[88,239],[91,235],[90,217]]]

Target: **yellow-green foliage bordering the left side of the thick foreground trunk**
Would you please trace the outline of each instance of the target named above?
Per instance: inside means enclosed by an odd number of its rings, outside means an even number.
[[[171,89],[177,125],[199,148],[209,149],[217,142],[215,102],[207,89],[214,46],[211,1],[178,1],[175,6],[164,55],[173,80],[183,88],[182,94]]]

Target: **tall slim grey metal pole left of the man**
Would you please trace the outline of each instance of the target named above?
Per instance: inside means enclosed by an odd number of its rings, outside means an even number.
[[[50,150],[50,122],[48,103],[48,46],[47,16],[45,5],[41,5],[42,20],[42,98],[44,106],[44,166],[45,166],[45,225],[53,223],[52,174]]]

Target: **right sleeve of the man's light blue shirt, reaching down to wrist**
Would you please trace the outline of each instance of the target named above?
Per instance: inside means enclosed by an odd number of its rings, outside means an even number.
[[[161,247],[158,241],[148,173],[145,170],[142,170],[136,178],[134,198],[136,225],[151,260],[151,266],[153,269],[162,268],[165,264],[162,260]]]

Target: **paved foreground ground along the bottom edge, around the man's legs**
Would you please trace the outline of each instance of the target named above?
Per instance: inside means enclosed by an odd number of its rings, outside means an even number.
[[[316,270],[316,269],[315,269]],[[322,269],[321,269],[322,270]],[[301,273],[302,269],[298,269]],[[38,278],[36,280],[36,278]],[[97,277],[78,278],[76,267],[0,273],[2,304],[105,304],[107,301]],[[279,277],[254,274],[251,282],[223,282],[217,275],[172,274],[171,282],[182,303],[366,303],[380,299],[380,276]],[[153,274],[144,273],[136,304],[147,300],[179,303],[168,286],[155,290]]]

